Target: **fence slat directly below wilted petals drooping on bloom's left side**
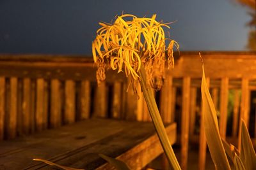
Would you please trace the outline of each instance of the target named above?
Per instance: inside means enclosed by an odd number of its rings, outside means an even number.
[[[121,113],[121,82],[115,81],[113,85],[113,104],[112,104],[112,117],[120,118]]]

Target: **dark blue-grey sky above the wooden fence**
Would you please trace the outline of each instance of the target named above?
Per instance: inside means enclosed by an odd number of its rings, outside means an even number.
[[[234,0],[233,0],[234,1]],[[132,13],[172,22],[180,50],[246,50],[250,17],[232,0],[0,0],[0,53],[91,55],[98,22]]]

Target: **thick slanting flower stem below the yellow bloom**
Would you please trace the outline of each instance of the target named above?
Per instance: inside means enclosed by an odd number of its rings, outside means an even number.
[[[140,81],[141,89],[143,91],[143,95],[148,106],[150,117],[152,118],[152,122],[156,129],[157,136],[163,147],[166,158],[168,159],[168,162],[170,166],[173,167],[173,169],[179,170],[180,169],[179,162],[175,157],[175,154],[172,149],[172,145],[170,144],[170,141],[164,129],[164,124],[161,119],[159,110],[157,108],[157,104],[156,104],[156,100],[155,100],[152,88],[148,87],[147,85],[147,78],[146,78],[145,68],[143,64],[141,64],[140,78],[141,78],[141,81]]]

